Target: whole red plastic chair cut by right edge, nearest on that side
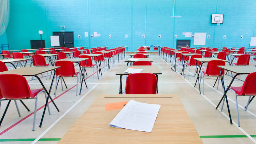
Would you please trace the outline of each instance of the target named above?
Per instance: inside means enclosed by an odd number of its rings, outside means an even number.
[[[248,105],[250,103],[251,96],[256,95],[255,81],[256,81],[256,72],[253,72],[253,73],[250,73],[249,75],[247,75],[247,77],[245,78],[245,81],[243,83],[243,86],[240,86],[240,87],[231,86],[229,88],[229,90],[233,91],[236,96],[235,98],[236,98],[236,109],[237,109],[237,121],[238,121],[239,127],[240,127],[240,120],[239,120],[239,113],[238,113],[237,96],[249,96],[248,102],[245,107],[245,111],[246,111],[248,108]],[[223,105],[222,105],[222,109],[223,109]]]

